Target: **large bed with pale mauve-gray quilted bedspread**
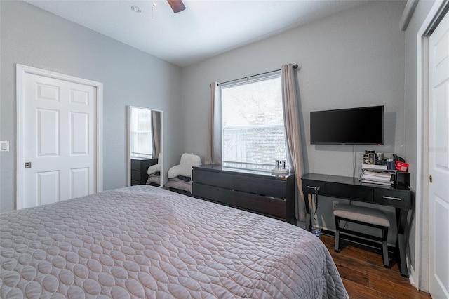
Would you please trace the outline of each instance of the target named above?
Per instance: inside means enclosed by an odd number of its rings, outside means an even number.
[[[286,222],[137,185],[0,218],[1,298],[347,298]]]

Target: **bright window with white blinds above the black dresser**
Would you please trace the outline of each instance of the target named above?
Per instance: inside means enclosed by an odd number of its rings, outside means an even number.
[[[286,160],[281,74],[221,87],[223,165],[269,171]]]

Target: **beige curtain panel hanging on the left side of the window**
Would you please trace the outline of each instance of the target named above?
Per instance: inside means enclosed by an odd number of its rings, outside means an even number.
[[[222,105],[217,82],[210,84],[210,107],[208,124],[208,148],[206,164],[222,164]]]

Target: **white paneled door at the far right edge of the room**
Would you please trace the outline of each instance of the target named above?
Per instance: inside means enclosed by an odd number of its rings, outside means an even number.
[[[429,290],[449,298],[449,13],[429,38]]]

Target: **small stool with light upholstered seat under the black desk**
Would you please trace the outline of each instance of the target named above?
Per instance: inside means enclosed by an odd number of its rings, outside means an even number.
[[[382,260],[384,266],[389,267],[387,237],[390,222],[384,212],[375,208],[364,206],[352,206],[349,204],[338,204],[333,211],[335,217],[335,251],[340,251],[340,234],[353,234],[366,239],[373,239],[382,243]],[[358,223],[382,230],[382,237],[375,237],[361,232],[354,232],[340,227],[340,220]]]

